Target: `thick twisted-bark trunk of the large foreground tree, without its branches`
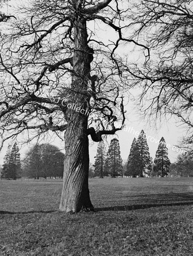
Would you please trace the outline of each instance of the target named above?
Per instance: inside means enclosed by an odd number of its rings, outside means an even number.
[[[77,17],[74,21],[74,56],[71,63],[74,97],[70,99],[71,106],[75,106],[70,109],[68,105],[66,112],[68,127],[65,131],[64,184],[59,208],[71,213],[94,209],[90,201],[88,184],[89,139],[86,114],[90,100],[87,83],[90,63],[93,60],[91,50],[87,45],[86,21]]]

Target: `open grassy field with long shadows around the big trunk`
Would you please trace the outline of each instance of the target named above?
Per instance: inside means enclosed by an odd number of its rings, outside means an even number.
[[[90,179],[96,212],[58,212],[61,180],[0,181],[0,255],[193,255],[193,178]]]

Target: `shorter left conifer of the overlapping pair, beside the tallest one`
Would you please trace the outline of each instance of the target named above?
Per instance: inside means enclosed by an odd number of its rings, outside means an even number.
[[[125,172],[126,176],[136,177],[140,175],[140,154],[137,145],[136,138],[133,139],[131,150],[127,159],[127,171]]]

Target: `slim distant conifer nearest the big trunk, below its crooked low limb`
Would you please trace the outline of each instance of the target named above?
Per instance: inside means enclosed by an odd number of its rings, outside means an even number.
[[[107,176],[107,172],[104,172],[104,164],[106,162],[106,152],[104,142],[101,141],[98,144],[97,153],[95,156],[94,163],[94,173],[95,176],[99,176],[103,178],[103,176]]]

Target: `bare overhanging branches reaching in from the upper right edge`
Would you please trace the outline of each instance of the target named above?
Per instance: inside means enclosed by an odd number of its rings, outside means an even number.
[[[133,85],[142,85],[145,113],[175,115],[193,127],[193,1],[135,1],[130,16],[132,38],[143,38],[150,48],[144,66],[133,65]],[[146,101],[145,101],[146,99]],[[155,116],[153,116],[154,118]]]

